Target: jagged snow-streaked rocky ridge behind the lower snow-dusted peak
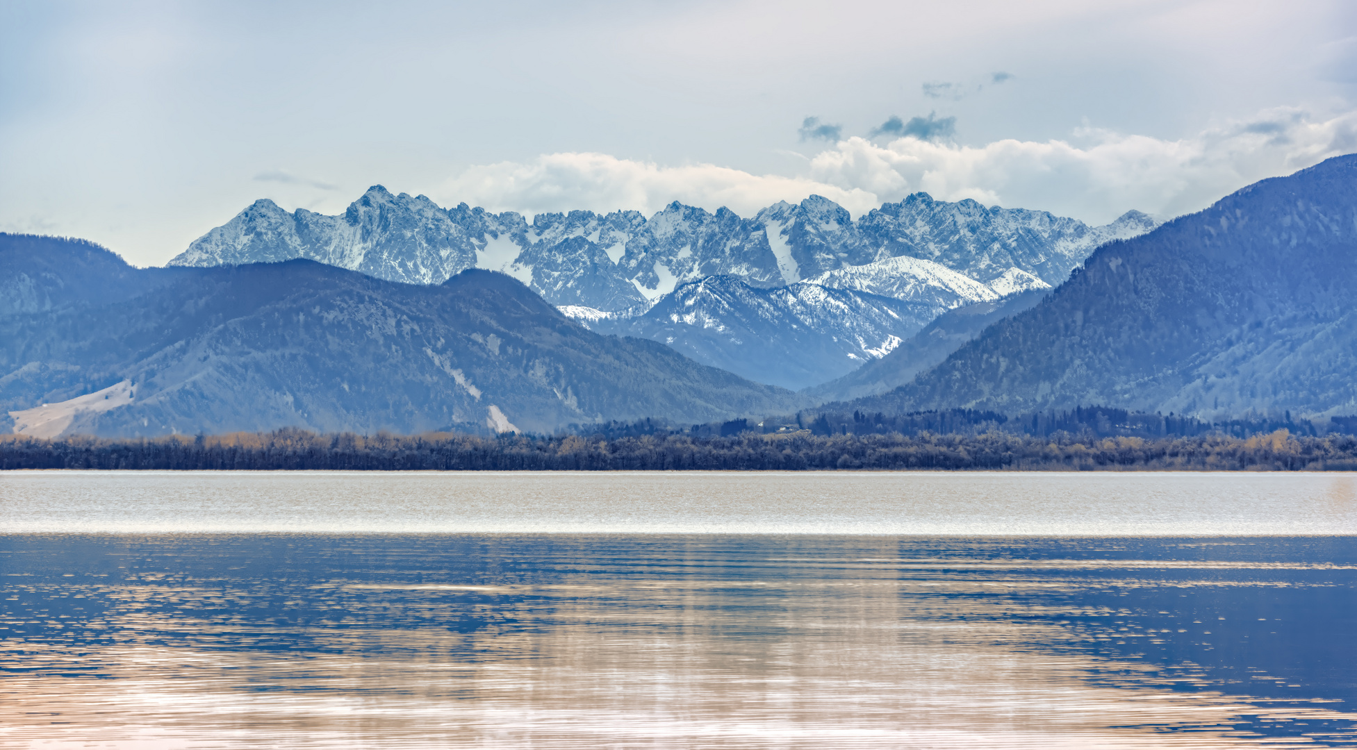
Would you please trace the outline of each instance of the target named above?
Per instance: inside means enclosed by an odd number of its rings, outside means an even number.
[[[989,283],[1063,282],[1098,244],[1133,236],[1153,221],[1130,212],[1088,226],[1045,212],[949,203],[927,194],[852,220],[811,195],[752,218],[672,203],[636,212],[490,213],[461,203],[369,189],[342,216],[286,213],[256,201],[194,240],[172,266],[221,266],[305,258],[388,281],[441,283],[471,267],[503,271],[554,305],[605,312],[646,308],[680,283],[729,275],[776,288],[892,258],[919,258]],[[1006,282],[1011,285],[1010,282]]]

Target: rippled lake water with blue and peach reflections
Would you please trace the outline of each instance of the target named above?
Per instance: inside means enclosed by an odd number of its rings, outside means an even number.
[[[1353,745],[1353,475],[0,475],[3,747]]]

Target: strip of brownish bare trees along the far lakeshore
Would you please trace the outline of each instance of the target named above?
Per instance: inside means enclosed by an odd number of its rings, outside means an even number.
[[[418,435],[297,429],[160,438],[0,437],[0,469],[1357,471],[1357,437],[868,434]]]

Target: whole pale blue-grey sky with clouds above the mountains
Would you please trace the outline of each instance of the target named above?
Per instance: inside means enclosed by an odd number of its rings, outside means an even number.
[[[1357,3],[0,0],[0,231],[161,264],[258,198],[1105,224],[1357,152]]]

